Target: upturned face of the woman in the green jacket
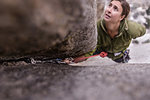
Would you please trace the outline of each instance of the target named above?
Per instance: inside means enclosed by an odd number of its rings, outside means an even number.
[[[120,22],[125,16],[122,16],[123,8],[119,1],[110,2],[104,13],[104,20],[106,22]]]

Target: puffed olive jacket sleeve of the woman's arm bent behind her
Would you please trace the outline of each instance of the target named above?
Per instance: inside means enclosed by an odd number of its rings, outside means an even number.
[[[143,36],[146,33],[146,28],[139,23],[128,21],[128,33],[130,34],[131,38],[135,39]]]

